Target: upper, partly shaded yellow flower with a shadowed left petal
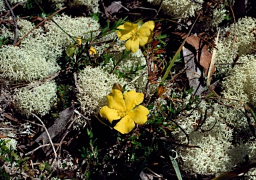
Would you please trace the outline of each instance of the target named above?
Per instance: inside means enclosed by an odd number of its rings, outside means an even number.
[[[117,37],[126,41],[125,47],[131,52],[136,52],[140,46],[150,43],[153,37],[154,21],[147,21],[141,27],[138,24],[124,23],[117,27],[121,31],[117,31]]]

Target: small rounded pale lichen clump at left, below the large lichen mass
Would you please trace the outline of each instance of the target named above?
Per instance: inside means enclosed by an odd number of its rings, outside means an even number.
[[[57,86],[53,81],[45,82],[33,88],[19,89],[15,92],[15,108],[21,114],[29,115],[29,112],[32,112],[44,116],[56,102],[56,92]]]

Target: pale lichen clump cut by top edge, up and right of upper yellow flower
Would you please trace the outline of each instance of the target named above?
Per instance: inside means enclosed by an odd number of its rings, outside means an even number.
[[[147,0],[153,5],[160,5],[161,0]],[[200,3],[203,3],[203,0],[198,0]],[[201,5],[190,0],[163,0],[161,9],[163,13],[167,15],[173,15],[175,17],[194,17],[195,11],[201,9]]]

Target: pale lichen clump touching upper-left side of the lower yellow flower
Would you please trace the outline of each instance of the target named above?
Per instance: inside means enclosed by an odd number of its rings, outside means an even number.
[[[81,110],[91,115],[98,113],[99,109],[107,105],[106,96],[111,93],[114,83],[127,84],[123,78],[115,74],[109,74],[101,67],[92,68],[86,66],[78,75],[79,94],[78,100],[81,103]],[[127,90],[135,89],[133,86],[126,86]]]

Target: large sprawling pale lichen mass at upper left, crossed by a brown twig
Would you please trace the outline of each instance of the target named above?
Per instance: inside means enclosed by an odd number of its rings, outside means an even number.
[[[67,15],[59,15],[54,20],[73,37],[89,39],[90,32],[99,29],[99,23],[87,17],[71,18]],[[19,20],[18,25],[19,38],[34,27],[26,20]],[[57,58],[73,41],[54,23],[49,22],[45,27],[46,34],[39,28],[23,39],[19,47],[3,46],[0,49],[2,78],[11,81],[41,80],[59,70]],[[75,38],[74,40],[77,41]]]

